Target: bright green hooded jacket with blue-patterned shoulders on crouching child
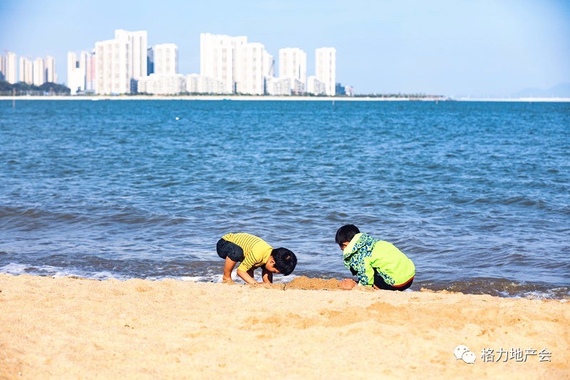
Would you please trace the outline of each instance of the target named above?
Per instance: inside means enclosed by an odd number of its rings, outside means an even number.
[[[378,273],[386,284],[398,287],[415,276],[415,265],[389,242],[368,234],[354,235],[343,250],[344,266],[358,275],[358,284],[371,287]]]

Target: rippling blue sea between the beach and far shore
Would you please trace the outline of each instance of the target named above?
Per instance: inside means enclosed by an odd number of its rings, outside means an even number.
[[[0,273],[219,282],[249,232],[341,279],[345,224],[412,290],[570,299],[570,103],[0,101]]]

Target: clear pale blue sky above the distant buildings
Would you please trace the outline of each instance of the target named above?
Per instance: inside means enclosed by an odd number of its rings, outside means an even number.
[[[115,29],[175,43],[179,72],[199,73],[199,34],[279,48],[336,48],[336,81],[363,93],[507,97],[570,83],[568,0],[0,0],[0,54],[90,51]],[[276,71],[276,75],[278,71]]]

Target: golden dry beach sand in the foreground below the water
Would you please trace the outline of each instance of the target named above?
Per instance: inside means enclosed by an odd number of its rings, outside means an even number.
[[[569,378],[569,302],[337,285],[0,274],[0,379]]]

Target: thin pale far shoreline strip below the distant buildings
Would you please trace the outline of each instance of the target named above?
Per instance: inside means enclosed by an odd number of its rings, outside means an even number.
[[[423,101],[423,102],[498,102],[498,103],[569,103],[570,98],[447,98],[445,96],[415,97],[334,97],[334,96],[0,96],[0,101]]]

